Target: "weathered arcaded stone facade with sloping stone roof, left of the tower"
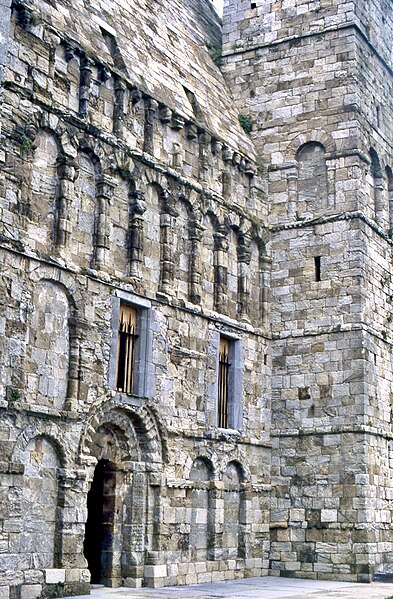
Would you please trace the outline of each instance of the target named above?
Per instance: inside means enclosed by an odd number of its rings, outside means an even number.
[[[0,187],[6,599],[88,592],[101,541],[109,586],[268,570],[266,186],[209,55],[215,13],[189,8],[13,7]],[[116,391],[121,302],[138,323],[128,394]],[[220,335],[239,374],[222,430]]]

